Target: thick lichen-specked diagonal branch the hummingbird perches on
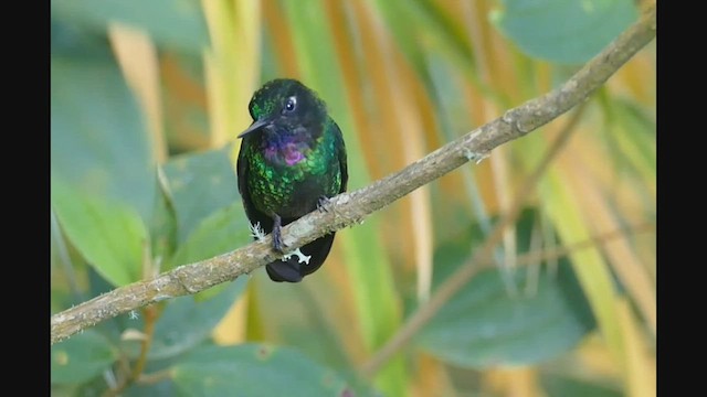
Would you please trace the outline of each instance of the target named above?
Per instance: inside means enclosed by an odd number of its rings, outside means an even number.
[[[506,111],[502,117],[445,144],[426,157],[369,186],[331,198],[329,212],[315,211],[283,228],[283,240],[300,247],[334,230],[360,223],[413,190],[461,167],[479,161],[496,147],[518,139],[584,101],[656,34],[651,6],[639,22],[557,89]],[[267,236],[218,257],[180,266],[151,280],[117,288],[51,318],[51,344],[101,321],[165,299],[203,291],[250,273],[277,259]]]

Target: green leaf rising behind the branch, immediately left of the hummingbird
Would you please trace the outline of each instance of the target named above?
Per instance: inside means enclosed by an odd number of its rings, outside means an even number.
[[[252,242],[243,204],[235,202],[217,210],[203,219],[187,240],[179,246],[170,267],[191,264],[228,253]]]

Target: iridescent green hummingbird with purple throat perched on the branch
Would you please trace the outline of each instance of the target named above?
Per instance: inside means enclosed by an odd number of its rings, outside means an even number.
[[[242,138],[236,164],[239,192],[252,227],[272,233],[285,253],[283,226],[346,191],[346,146],[339,126],[317,94],[296,79],[265,83],[251,98],[253,124]],[[255,233],[257,235],[257,233]],[[329,255],[335,233],[266,265],[271,280],[299,282]],[[258,238],[257,236],[255,238]]]

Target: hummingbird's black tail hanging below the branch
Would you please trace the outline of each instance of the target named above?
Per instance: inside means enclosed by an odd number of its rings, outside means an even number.
[[[291,256],[287,260],[275,260],[265,266],[267,276],[273,281],[282,282],[299,282],[302,279],[316,271],[329,255],[331,244],[334,243],[335,233],[320,237],[299,250],[305,256],[310,256],[308,262],[300,261],[296,255]]]

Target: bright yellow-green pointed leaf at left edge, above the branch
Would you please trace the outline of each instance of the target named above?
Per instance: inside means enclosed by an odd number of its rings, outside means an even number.
[[[148,237],[133,208],[82,194],[55,175],[51,202],[66,236],[102,277],[116,287],[141,278]]]

